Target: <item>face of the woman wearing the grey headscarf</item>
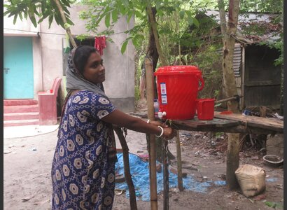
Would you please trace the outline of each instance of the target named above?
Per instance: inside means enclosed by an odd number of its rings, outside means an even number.
[[[87,59],[83,76],[94,84],[102,83],[106,79],[103,59],[98,52],[92,52]]]

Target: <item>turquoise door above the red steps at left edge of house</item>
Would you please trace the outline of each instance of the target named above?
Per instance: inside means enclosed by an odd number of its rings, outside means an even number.
[[[31,37],[3,37],[4,99],[34,99]]]

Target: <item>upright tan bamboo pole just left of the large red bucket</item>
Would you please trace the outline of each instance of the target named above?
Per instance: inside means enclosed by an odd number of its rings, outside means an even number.
[[[153,99],[155,99],[154,83],[153,83],[153,62],[146,58],[146,98],[148,102],[148,119],[155,120],[155,110],[153,108]],[[155,135],[149,134],[150,142],[150,190],[151,190],[151,209],[158,210],[158,194],[157,194],[157,176],[156,176],[156,152],[155,152]]]

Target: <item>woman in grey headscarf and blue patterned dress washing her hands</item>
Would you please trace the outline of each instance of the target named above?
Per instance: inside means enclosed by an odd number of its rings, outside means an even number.
[[[52,209],[112,209],[116,144],[112,124],[172,138],[170,127],[128,116],[104,93],[103,59],[95,48],[71,51],[68,90],[52,162]]]

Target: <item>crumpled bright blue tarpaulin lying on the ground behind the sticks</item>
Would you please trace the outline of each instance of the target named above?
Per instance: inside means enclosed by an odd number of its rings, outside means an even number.
[[[123,165],[123,153],[118,153],[118,162],[116,163],[116,173],[125,174]],[[139,156],[129,153],[130,174],[134,183],[134,190],[137,197],[141,197],[143,201],[150,200],[150,180],[148,162],[144,162]],[[183,178],[183,188],[198,193],[207,193],[207,189],[211,184],[221,186],[225,185],[225,181],[196,181],[193,176]],[[169,188],[177,187],[177,175],[169,171]],[[126,182],[116,183],[116,189],[127,190],[126,195],[129,197],[129,190]],[[163,172],[157,172],[157,191],[163,190]]]

